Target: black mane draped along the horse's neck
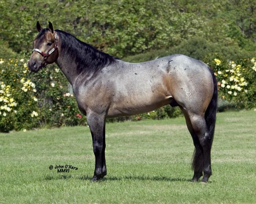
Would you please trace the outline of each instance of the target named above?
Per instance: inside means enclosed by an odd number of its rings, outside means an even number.
[[[66,57],[75,60],[78,73],[83,71],[94,73],[103,67],[116,62],[118,58],[98,51],[93,46],[78,40],[75,36],[61,30],[56,30],[61,43],[61,52]]]

